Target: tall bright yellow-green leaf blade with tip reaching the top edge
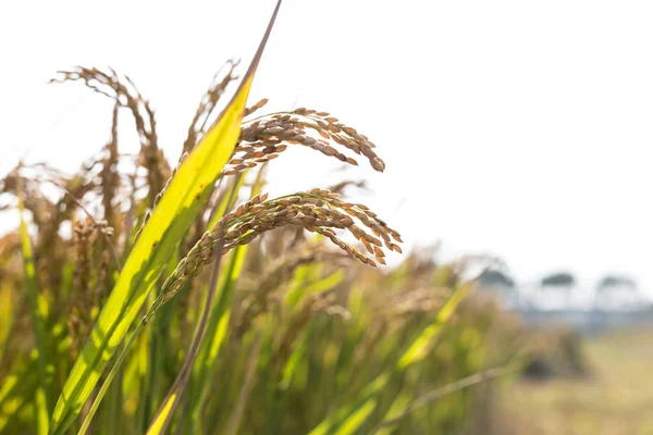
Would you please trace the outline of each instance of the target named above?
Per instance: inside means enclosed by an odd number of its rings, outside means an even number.
[[[108,361],[114,356],[149,290],[168,265],[208,200],[230,159],[241,133],[243,111],[263,48],[279,11],[276,4],[268,30],[233,99],[213,127],[180,164],[176,174],[143,228],[104,308],[69,378],[50,424],[52,434],[63,433],[82,411]]]

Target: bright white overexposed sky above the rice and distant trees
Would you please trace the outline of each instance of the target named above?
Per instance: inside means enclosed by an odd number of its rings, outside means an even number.
[[[213,74],[229,58],[246,64],[273,7],[1,2],[0,174],[25,154],[75,170],[107,141],[109,100],[45,85],[77,64],[130,75],[176,159]],[[271,189],[367,178],[375,194],[357,199],[408,246],[492,252],[518,279],[568,268],[653,288],[652,22],[648,1],[286,0],[251,101],[330,111],[387,169],[343,174],[291,150]]]

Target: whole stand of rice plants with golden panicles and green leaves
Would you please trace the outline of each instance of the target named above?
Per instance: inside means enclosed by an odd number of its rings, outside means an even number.
[[[0,239],[0,432],[451,433],[469,425],[475,382],[432,390],[512,361],[518,330],[467,298],[463,263],[375,269],[402,238],[347,199],[357,183],[264,192],[295,146],[385,169],[326,112],[247,105],[278,11],[231,101],[237,62],[209,86],[176,163],[126,76],[53,79],[114,110],[77,173],[21,163],[0,182],[21,215]],[[137,156],[120,152],[123,112]]]

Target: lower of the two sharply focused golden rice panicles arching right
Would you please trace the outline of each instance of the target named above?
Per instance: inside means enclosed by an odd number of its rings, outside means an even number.
[[[247,245],[263,233],[283,226],[298,226],[321,234],[350,257],[371,266],[385,264],[386,249],[401,252],[399,234],[390,228],[375,213],[362,204],[354,204],[338,199],[340,195],[326,189],[312,189],[268,200],[268,195],[257,195],[249,201],[226,213],[213,227],[205,233],[182,259],[177,268],[163,284],[162,294],[169,300],[193,276],[218,256]],[[221,234],[222,228],[224,233]],[[373,259],[345,243],[337,236],[346,229],[360,241]],[[222,251],[217,252],[218,241],[223,238]]]

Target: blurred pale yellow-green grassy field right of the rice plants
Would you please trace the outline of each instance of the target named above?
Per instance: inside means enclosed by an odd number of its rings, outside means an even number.
[[[607,331],[578,343],[587,372],[502,384],[496,434],[653,434],[653,330]]]

